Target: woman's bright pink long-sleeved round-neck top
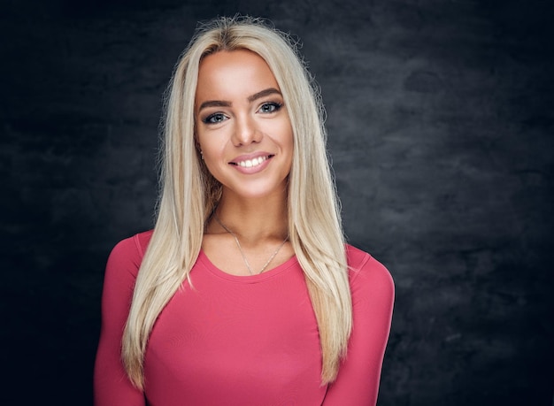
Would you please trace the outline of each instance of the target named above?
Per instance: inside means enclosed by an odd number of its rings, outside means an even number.
[[[354,326],[338,378],[320,385],[319,333],[296,257],[253,276],[216,268],[200,252],[150,334],[144,392],[120,361],[121,334],[151,232],[108,259],[95,366],[96,406],[374,405],[394,302],[389,272],[347,246]]]

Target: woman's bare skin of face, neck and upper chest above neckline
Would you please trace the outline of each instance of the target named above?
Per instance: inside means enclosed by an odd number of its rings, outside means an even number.
[[[262,57],[219,51],[199,66],[195,115],[204,164],[223,186],[218,217],[258,272],[287,236],[293,134],[281,89]],[[202,248],[220,270],[250,275],[234,237],[213,218]],[[287,242],[266,270],[293,255]]]

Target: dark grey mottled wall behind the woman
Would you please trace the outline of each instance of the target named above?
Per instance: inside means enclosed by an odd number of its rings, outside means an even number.
[[[304,42],[346,232],[396,280],[379,404],[551,405],[552,2],[1,4],[2,404],[90,404],[165,84],[197,20],[241,11]]]

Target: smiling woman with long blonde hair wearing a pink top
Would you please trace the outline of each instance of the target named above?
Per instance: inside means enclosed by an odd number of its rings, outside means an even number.
[[[289,38],[216,19],[165,106],[153,232],[106,267],[96,405],[365,405],[394,287],[345,245],[318,93]]]

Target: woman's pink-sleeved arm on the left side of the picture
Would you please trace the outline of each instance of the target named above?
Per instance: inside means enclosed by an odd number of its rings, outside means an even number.
[[[133,387],[121,363],[121,336],[142,259],[135,238],[119,242],[106,265],[102,328],[94,372],[95,406],[145,404],[142,391]]]

